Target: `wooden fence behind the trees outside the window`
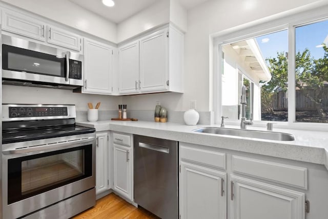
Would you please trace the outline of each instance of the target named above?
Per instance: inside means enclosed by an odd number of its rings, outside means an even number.
[[[316,90],[310,90],[309,95],[314,97]],[[315,103],[303,94],[303,91],[296,90],[296,111],[314,111],[316,110]],[[320,97],[321,106],[324,111],[328,110],[328,88],[324,90],[323,95]],[[273,96],[272,106],[274,111],[286,111],[288,108],[288,97],[284,91],[279,91]]]

